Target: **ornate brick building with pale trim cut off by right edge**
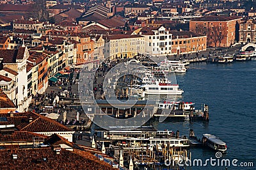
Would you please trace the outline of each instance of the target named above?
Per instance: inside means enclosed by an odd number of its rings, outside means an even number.
[[[256,20],[241,20],[239,24],[239,43],[256,43]]]

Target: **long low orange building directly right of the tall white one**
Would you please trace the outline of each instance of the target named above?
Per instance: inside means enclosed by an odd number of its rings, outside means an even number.
[[[172,54],[191,54],[206,50],[207,36],[192,31],[171,31]]]

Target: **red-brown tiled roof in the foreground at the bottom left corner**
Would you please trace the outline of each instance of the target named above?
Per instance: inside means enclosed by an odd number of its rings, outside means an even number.
[[[13,159],[13,154],[17,155],[17,159]],[[28,148],[0,150],[0,155],[0,169],[114,169],[91,153],[79,150],[61,149],[60,154],[56,154],[54,149],[49,147]]]

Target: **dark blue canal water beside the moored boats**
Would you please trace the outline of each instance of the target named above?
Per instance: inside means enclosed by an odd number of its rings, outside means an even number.
[[[256,61],[224,65],[193,63],[187,73],[176,77],[184,90],[181,100],[194,102],[198,109],[202,104],[209,105],[210,121],[154,121],[154,127],[157,130],[179,130],[180,135],[188,135],[192,128],[200,139],[202,134],[214,134],[227,143],[227,153],[222,159],[230,160],[228,169],[256,169]],[[216,158],[213,150],[191,148],[191,153],[192,160]],[[237,167],[232,166],[233,159],[238,160]],[[253,162],[254,167],[241,167],[241,162]],[[226,167],[211,166],[208,162],[206,167],[186,169]]]

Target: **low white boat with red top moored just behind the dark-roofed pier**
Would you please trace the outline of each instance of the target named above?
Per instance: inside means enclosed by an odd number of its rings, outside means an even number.
[[[158,109],[176,109],[179,108],[180,104],[184,104],[184,111],[189,111],[191,106],[195,105],[192,102],[167,102],[164,101],[163,103],[158,104]]]

